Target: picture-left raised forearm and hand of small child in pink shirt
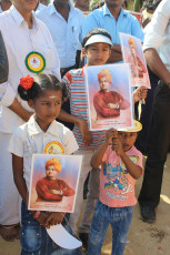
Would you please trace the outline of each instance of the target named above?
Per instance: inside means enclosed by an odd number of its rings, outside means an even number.
[[[104,143],[94,152],[92,159],[91,159],[91,166],[93,169],[98,169],[98,166],[102,162],[102,157],[107,151],[107,147],[109,144],[111,144],[112,139],[117,135],[117,130],[108,130],[106,133],[106,141]]]

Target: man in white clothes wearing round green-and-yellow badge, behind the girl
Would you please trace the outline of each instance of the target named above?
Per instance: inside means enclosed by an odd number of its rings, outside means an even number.
[[[9,78],[0,84],[0,234],[6,241],[18,237],[19,193],[13,182],[11,134],[32,115],[31,109],[18,96],[18,84],[26,75],[52,73],[60,79],[59,58],[46,24],[36,19],[32,10],[38,0],[12,0],[13,6],[0,16],[0,31],[4,40]]]

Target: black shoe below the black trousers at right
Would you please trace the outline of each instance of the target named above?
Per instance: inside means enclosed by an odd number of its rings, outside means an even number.
[[[148,205],[141,206],[141,215],[143,222],[153,223],[156,221],[156,208]]]

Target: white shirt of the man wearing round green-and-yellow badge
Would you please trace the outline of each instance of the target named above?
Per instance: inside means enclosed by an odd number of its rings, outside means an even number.
[[[0,84],[0,104],[2,114],[0,119],[0,132],[12,133],[23,121],[13,113],[8,106],[12,104],[14,98],[21,105],[31,111],[26,101],[18,95],[20,79],[26,75],[34,76],[26,65],[26,57],[32,52],[40,52],[46,59],[44,73],[51,73],[60,80],[60,61],[53,44],[51,34],[47,26],[34,18],[33,28],[29,29],[23,17],[12,6],[9,11],[0,14],[0,30],[4,40],[8,60],[9,79],[8,82]]]

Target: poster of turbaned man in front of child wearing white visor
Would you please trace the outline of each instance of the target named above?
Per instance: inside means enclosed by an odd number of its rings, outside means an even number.
[[[90,130],[132,126],[129,64],[86,68]]]

